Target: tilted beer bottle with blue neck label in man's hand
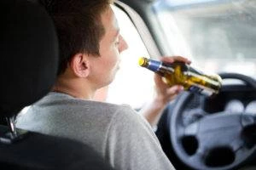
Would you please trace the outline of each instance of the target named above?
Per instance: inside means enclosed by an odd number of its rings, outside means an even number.
[[[183,85],[184,90],[193,93],[212,96],[221,88],[222,79],[217,74],[207,75],[183,62],[170,64],[142,57],[139,65],[158,73],[169,86]]]

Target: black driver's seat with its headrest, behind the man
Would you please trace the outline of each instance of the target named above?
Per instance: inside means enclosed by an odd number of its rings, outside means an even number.
[[[112,169],[87,145],[16,129],[14,117],[55,82],[58,42],[43,6],[1,0],[0,169]]]

